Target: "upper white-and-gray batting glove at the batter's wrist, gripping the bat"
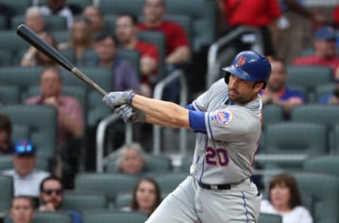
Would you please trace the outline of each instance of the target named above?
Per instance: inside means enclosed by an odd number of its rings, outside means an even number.
[[[134,95],[134,92],[131,90],[123,92],[109,92],[102,98],[102,101],[105,102],[107,107],[115,109],[121,104],[131,104]]]

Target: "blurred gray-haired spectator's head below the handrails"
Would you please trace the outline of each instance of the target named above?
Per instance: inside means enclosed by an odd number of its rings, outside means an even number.
[[[145,175],[145,155],[139,143],[126,144],[119,149],[117,173]]]

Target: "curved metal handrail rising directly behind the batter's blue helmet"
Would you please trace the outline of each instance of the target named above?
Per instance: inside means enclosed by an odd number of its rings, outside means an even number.
[[[229,34],[221,37],[217,42],[214,42],[210,45],[208,49],[208,68],[207,68],[207,76],[206,76],[206,89],[210,88],[211,85],[218,79],[219,76],[219,66],[218,64],[218,54],[220,53],[220,49],[227,46],[232,40],[238,38],[244,32],[253,32],[256,35],[256,44],[258,52],[263,52],[263,39],[261,37],[261,32],[257,28],[252,28],[248,26],[239,26],[238,28],[232,30]],[[254,43],[254,42],[252,42]]]

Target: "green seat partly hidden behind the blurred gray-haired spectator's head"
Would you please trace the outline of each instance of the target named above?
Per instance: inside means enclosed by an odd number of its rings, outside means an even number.
[[[171,171],[171,159],[169,157],[164,156],[147,156],[145,157],[146,162],[146,171],[150,172],[168,172]],[[107,163],[107,172],[112,173],[115,169],[116,160],[109,160]]]

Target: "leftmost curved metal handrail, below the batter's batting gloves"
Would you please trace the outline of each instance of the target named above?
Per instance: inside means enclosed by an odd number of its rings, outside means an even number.
[[[108,126],[115,121],[120,119],[118,114],[110,114],[105,119],[102,119],[97,126],[97,139],[96,139],[96,147],[97,147],[97,172],[101,173],[103,171],[103,159],[104,159],[104,151],[105,151],[105,133]],[[125,142],[131,143],[133,140],[133,128],[131,123],[126,123],[125,126]]]

